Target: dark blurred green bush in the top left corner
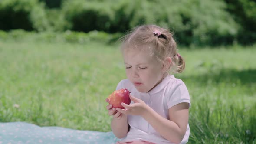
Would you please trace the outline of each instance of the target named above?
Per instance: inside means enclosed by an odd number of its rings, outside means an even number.
[[[37,0],[1,0],[0,29],[44,31],[49,28],[44,4]]]

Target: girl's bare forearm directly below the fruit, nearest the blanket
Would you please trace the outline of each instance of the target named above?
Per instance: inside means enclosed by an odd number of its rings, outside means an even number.
[[[126,137],[129,131],[127,115],[122,114],[121,119],[113,118],[111,121],[111,129],[117,138]]]

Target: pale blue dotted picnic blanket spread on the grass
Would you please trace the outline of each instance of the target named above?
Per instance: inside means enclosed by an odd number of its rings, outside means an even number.
[[[25,122],[0,123],[0,144],[115,144],[110,132],[39,127]]]

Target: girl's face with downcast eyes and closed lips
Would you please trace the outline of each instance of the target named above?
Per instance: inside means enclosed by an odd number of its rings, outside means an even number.
[[[132,48],[123,52],[126,76],[139,92],[148,92],[161,82],[163,65],[149,52]]]

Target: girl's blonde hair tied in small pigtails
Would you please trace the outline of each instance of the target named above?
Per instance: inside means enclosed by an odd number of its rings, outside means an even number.
[[[185,69],[185,61],[177,53],[177,43],[174,41],[173,33],[170,33],[168,29],[156,25],[138,26],[121,38],[121,41],[122,49],[142,49],[145,45],[148,46],[146,50],[150,50],[152,56],[162,63],[167,57],[171,57],[172,62],[167,72],[171,70],[173,73],[181,73]]]

